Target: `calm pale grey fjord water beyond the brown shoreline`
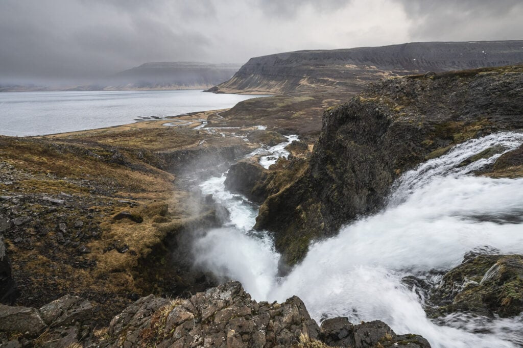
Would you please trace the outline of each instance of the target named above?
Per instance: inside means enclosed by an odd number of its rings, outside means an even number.
[[[174,91],[0,93],[0,134],[43,135],[134,122],[139,117],[231,108],[259,96]]]

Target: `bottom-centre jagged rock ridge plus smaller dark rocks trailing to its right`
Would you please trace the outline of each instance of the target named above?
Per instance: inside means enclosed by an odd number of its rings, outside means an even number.
[[[396,335],[381,321],[353,326],[346,318],[336,318],[326,320],[320,330],[298,297],[281,304],[257,303],[238,282],[186,300],[141,298],[111,321],[108,333],[102,346],[430,347],[419,336]]]

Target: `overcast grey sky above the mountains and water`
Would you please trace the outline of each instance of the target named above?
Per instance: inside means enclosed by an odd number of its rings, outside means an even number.
[[[144,62],[523,39],[521,0],[0,0],[0,83]]]

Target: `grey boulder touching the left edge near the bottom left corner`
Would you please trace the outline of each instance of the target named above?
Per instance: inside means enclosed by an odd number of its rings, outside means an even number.
[[[37,336],[46,327],[35,308],[0,305],[0,331]]]

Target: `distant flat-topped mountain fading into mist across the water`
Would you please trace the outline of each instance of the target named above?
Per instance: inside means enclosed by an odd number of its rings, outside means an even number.
[[[209,88],[231,78],[240,67],[240,64],[151,62],[122,71],[112,76],[109,83],[127,88]]]

